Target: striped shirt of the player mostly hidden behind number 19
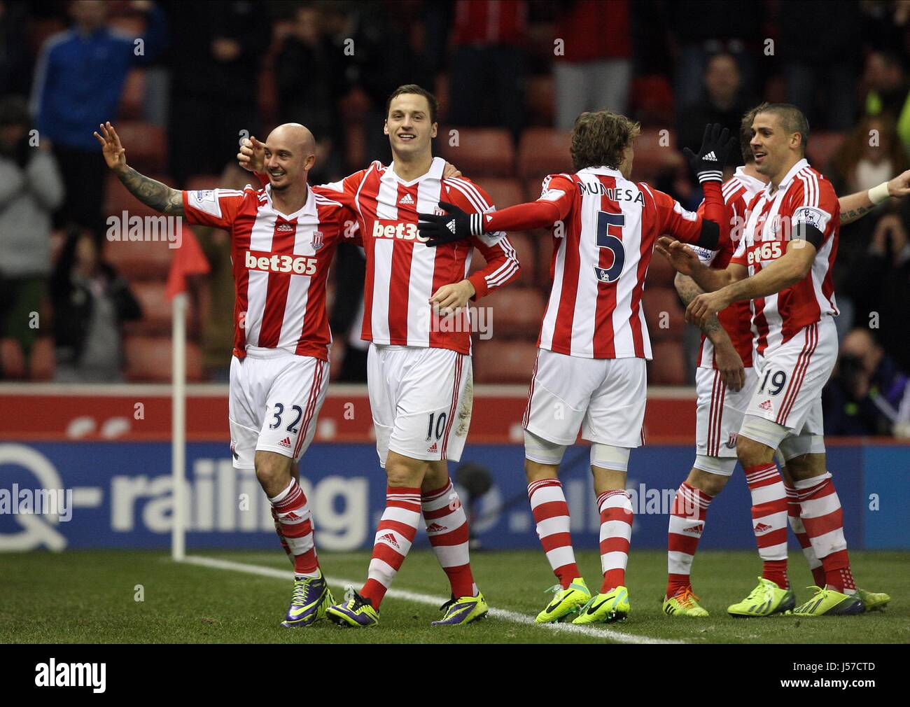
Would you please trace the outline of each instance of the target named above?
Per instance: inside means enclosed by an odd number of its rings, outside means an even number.
[[[723,183],[723,203],[727,207],[729,223],[737,233],[742,232],[746,220],[746,209],[753,197],[764,188],[761,179],[750,177],[743,173],[743,167],[736,167],[736,174]],[[704,204],[698,208],[703,214]],[[717,270],[723,270],[730,264],[733,253],[736,251],[738,241],[725,241],[720,250],[707,250],[695,247],[695,252],[704,265]],[[753,330],[752,330],[752,302],[748,299],[733,302],[728,308],[717,313],[721,326],[730,336],[733,348],[743,359],[745,368],[752,368]],[[717,369],[714,359],[714,345],[711,339],[702,334],[702,346],[698,351],[698,367],[700,369]]]

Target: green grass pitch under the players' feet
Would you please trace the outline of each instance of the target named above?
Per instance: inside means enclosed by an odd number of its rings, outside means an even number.
[[[734,620],[726,607],[753,589],[760,562],[754,552],[703,551],[695,561],[693,582],[708,619],[672,619],[661,599],[666,554],[632,550],[627,621],[587,631],[553,630],[530,620],[545,605],[553,582],[540,551],[474,552],[474,576],[490,606],[500,610],[484,621],[460,628],[431,628],[440,616],[426,595],[440,603],[449,591],[445,575],[429,550],[410,553],[393,590],[382,604],[378,627],[341,629],[328,621],[307,629],[281,629],[290,599],[290,566],[280,552],[196,551],[221,561],[267,568],[268,576],[247,571],[177,564],[160,551],[67,551],[5,554],[0,572],[0,641],[40,642],[227,642],[227,643],[399,643],[399,642],[910,642],[910,552],[852,552],[860,586],[887,591],[884,612],[858,617],[816,619],[776,616]],[[599,558],[580,552],[579,563],[591,589],[599,583]],[[364,579],[369,554],[323,553],[331,579]],[[278,572],[287,576],[278,576]],[[273,576],[274,575],[274,576]],[[798,602],[812,584],[803,558],[793,552],[790,577]],[[142,585],[144,601],[136,601]],[[332,590],[341,599],[338,582]],[[424,601],[414,601],[421,596]]]

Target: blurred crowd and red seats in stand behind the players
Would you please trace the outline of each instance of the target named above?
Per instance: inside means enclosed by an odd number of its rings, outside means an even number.
[[[906,3],[875,1],[2,0],[0,378],[169,375],[170,252],[106,238],[107,217],[146,212],[106,173],[92,136],[104,120],[116,122],[131,164],[183,188],[242,186],[247,175],[231,164],[238,140],[300,122],[317,137],[319,183],[389,160],[385,98],[418,83],[440,98],[438,151],[505,207],[571,167],[575,116],[609,109],[642,123],[633,176],[694,208],[701,191],[678,149],[697,146],[707,122],[735,134],[749,107],[785,101],[809,117],[810,161],[845,194],[907,167],[908,30]],[[826,392],[833,433],[891,433],[910,419],[908,230],[906,203],[842,228],[846,365]],[[222,379],[228,244],[217,231],[197,237],[212,272],[194,299],[189,371]],[[479,382],[530,375],[551,248],[546,232],[511,238],[522,275],[490,298],[494,337],[476,348]],[[362,279],[362,268],[356,250],[339,250],[337,281]],[[330,293],[337,379],[363,375],[358,298],[356,288]],[[697,331],[682,323],[662,258],[644,306],[652,383],[691,382]]]

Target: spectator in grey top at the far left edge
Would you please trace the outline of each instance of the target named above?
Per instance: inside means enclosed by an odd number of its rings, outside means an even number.
[[[0,101],[0,337],[15,338],[26,363],[51,267],[51,215],[64,197],[54,156],[29,145],[30,130],[23,99]]]

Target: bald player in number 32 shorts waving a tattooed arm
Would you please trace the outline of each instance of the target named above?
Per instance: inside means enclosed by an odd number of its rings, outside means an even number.
[[[231,454],[236,469],[256,470],[294,566],[293,596],[281,625],[308,626],[325,616],[334,599],[319,569],[297,462],[316,432],[329,384],[329,264],[355,216],[328,190],[307,184],[316,141],[297,123],[268,136],[268,184],[260,189],[172,189],[127,166],[110,123],[95,136],[107,166],[143,204],[230,233],[237,291]]]

